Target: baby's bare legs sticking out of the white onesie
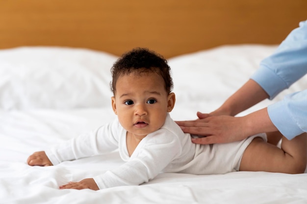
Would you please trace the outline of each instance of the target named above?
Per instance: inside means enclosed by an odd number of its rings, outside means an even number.
[[[307,134],[288,140],[282,136],[281,149],[256,137],[246,148],[240,171],[304,173],[307,164]]]

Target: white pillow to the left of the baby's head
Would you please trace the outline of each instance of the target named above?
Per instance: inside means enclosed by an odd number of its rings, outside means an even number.
[[[110,68],[117,56],[81,48],[0,50],[0,108],[110,106]]]

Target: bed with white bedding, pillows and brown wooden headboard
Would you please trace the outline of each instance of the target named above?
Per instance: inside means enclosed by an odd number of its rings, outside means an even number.
[[[172,68],[175,120],[218,108],[300,21],[307,1],[0,1],[0,203],[302,204],[307,174],[161,173],[138,186],[59,190],[123,163],[117,151],[55,166],[26,164],[35,151],[113,118],[110,68],[149,47]],[[274,100],[307,88],[303,77]]]

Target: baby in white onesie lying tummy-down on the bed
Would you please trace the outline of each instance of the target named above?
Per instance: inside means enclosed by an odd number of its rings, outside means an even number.
[[[124,54],[112,67],[112,108],[118,116],[97,130],[36,152],[29,165],[49,166],[119,149],[125,164],[94,178],[61,185],[61,189],[99,190],[148,182],[160,172],[196,175],[233,171],[301,173],[306,167],[306,136],[282,140],[282,149],[266,135],[227,144],[191,142],[171,119],[175,93],[170,67],[145,48]]]

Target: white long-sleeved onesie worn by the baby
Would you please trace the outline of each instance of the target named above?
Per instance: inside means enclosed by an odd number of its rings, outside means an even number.
[[[164,125],[147,135],[135,148],[131,157],[126,144],[127,131],[118,119],[89,134],[80,135],[46,151],[52,164],[65,160],[100,155],[119,149],[125,164],[94,177],[100,189],[120,185],[139,185],[160,172],[196,175],[225,174],[238,171],[246,147],[256,137],[266,140],[265,134],[245,140],[199,145],[191,142],[167,114]]]

